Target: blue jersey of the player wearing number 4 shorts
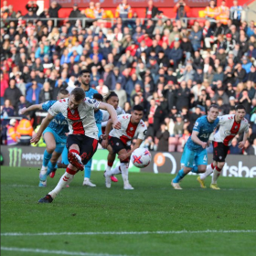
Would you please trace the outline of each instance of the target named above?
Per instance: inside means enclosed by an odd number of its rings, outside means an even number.
[[[197,137],[199,138],[200,141],[207,143],[209,139],[209,135],[213,133],[218,123],[219,123],[219,118],[217,118],[213,123],[209,123],[207,115],[203,115],[197,118],[197,121],[193,127],[193,131],[198,132]],[[203,150],[201,145],[196,144],[192,141],[191,136],[187,140],[187,147],[190,150],[196,150],[196,151]]]

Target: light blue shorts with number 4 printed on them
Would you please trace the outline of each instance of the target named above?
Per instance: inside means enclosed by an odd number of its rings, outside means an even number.
[[[189,168],[193,168],[193,165],[208,165],[207,150],[203,149],[202,151],[192,151],[186,144],[180,162],[182,165]]]

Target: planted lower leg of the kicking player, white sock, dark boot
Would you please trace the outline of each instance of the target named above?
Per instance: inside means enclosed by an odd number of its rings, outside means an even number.
[[[45,197],[38,200],[38,203],[51,203],[55,197],[59,194],[63,187],[67,187],[77,173],[76,168],[73,165],[69,165],[63,176],[60,177],[57,186],[48,193]]]

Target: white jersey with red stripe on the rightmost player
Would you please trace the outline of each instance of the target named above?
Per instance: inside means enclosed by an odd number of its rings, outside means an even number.
[[[235,121],[235,114],[219,116],[219,130],[214,134],[214,141],[230,145],[238,133],[248,133],[249,123],[244,118],[240,123]]]

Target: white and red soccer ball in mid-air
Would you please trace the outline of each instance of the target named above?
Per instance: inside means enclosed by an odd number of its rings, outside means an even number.
[[[151,162],[151,154],[148,149],[137,148],[133,151],[131,155],[131,161],[134,166],[138,168],[144,168]]]

